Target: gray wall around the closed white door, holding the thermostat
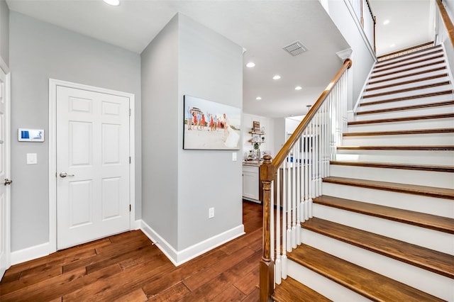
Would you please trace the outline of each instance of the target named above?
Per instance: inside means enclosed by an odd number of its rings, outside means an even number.
[[[10,14],[11,137],[17,129],[48,133],[49,78],[135,94],[135,213],[140,218],[140,55],[84,35]],[[26,164],[26,153],[38,164]],[[49,145],[11,141],[11,251],[49,240]]]

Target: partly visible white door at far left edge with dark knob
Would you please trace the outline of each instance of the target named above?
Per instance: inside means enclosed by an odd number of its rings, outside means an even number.
[[[9,75],[0,68],[0,279],[10,265]]]

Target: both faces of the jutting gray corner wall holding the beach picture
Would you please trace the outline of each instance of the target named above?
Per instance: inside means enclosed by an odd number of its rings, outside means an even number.
[[[182,149],[184,94],[243,108],[242,57],[181,14],[142,53],[142,218],[177,251],[242,224],[240,154]]]

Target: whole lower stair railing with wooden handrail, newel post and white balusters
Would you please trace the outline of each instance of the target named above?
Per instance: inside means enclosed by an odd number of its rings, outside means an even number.
[[[329,174],[347,127],[350,59],[304,116],[272,160],[260,165],[263,184],[263,240],[260,301],[269,301],[275,283],[287,278],[287,252],[301,244],[301,221],[312,217],[312,198],[321,195],[321,179]],[[276,215],[273,211],[276,206]],[[281,210],[282,208],[282,210]],[[282,219],[281,219],[282,217]]]

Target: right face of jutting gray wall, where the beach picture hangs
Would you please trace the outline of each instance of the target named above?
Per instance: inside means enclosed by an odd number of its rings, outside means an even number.
[[[241,150],[182,150],[184,94],[243,108],[243,47],[180,15],[178,250],[243,224]]]

